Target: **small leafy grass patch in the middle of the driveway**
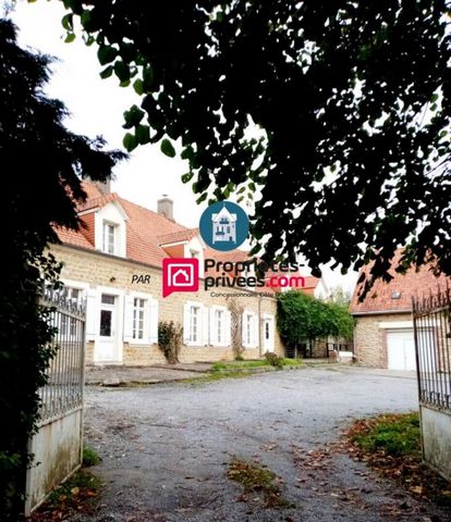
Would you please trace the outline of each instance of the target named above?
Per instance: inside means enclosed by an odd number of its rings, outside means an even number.
[[[289,508],[290,502],[282,496],[282,480],[266,465],[232,457],[227,476],[243,486],[244,495],[240,498],[247,501],[258,495],[265,508]]]

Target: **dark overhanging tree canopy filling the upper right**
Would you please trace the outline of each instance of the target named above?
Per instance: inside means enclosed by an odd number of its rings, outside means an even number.
[[[266,260],[301,252],[317,273],[373,259],[389,278],[406,245],[405,265],[438,258],[451,274],[447,0],[66,7],[114,60],[102,74],[135,78],[151,141],[191,147],[199,201],[261,188]]]

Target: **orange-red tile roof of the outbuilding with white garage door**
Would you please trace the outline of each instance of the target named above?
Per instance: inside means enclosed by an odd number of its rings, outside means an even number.
[[[397,273],[394,268],[399,264],[401,253],[401,249],[397,251],[389,271],[393,278],[389,283],[377,279],[363,302],[358,302],[358,293],[364,283],[356,285],[350,304],[351,313],[409,312],[412,310],[412,297],[434,293],[438,286],[444,287],[447,281],[451,283],[451,278],[444,275],[436,277],[427,265],[420,266],[418,272],[411,269],[405,275]],[[361,273],[368,274],[369,270],[370,265],[366,265]],[[398,299],[393,298],[397,293],[400,294]]]

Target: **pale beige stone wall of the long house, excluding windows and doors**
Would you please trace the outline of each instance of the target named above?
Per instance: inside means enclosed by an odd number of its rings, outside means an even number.
[[[139,263],[130,259],[121,259],[99,251],[88,251],[83,248],[69,245],[53,245],[52,253],[59,261],[63,262],[61,278],[70,282],[81,282],[90,288],[117,288],[125,294],[138,291],[158,300],[158,320],[174,321],[183,325],[183,307],[186,301],[199,301],[206,307],[222,306],[228,307],[230,297],[212,297],[211,291],[227,293],[228,295],[243,294],[243,290],[232,288],[217,288],[215,290],[199,289],[197,293],[174,293],[167,298],[161,296],[161,275],[162,272],[157,266]],[[146,283],[132,283],[134,275],[149,275]],[[143,278],[145,281],[145,278]],[[202,282],[200,282],[202,284]],[[247,291],[246,291],[247,293]],[[277,314],[277,301],[272,297],[264,297],[257,293],[248,291],[252,297],[236,297],[240,307],[245,308],[261,318],[264,314],[270,314],[275,319]],[[245,359],[256,359],[263,353],[263,326],[259,322],[259,347],[246,348],[243,357]],[[283,345],[275,330],[275,352],[282,356]],[[200,361],[220,361],[232,360],[234,358],[231,347],[217,346],[186,346],[183,345],[180,353],[180,361],[200,362]],[[164,363],[164,357],[157,344],[133,345],[132,343],[122,343],[122,363],[124,365],[149,365]],[[94,343],[87,343],[86,363],[94,363]]]

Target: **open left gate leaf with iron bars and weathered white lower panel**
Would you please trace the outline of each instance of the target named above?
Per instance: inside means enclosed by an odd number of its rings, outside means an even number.
[[[39,390],[39,430],[29,440],[35,463],[26,476],[25,514],[81,465],[83,450],[85,302],[81,294],[45,289],[40,304],[50,309],[57,331],[51,341],[56,356]]]

